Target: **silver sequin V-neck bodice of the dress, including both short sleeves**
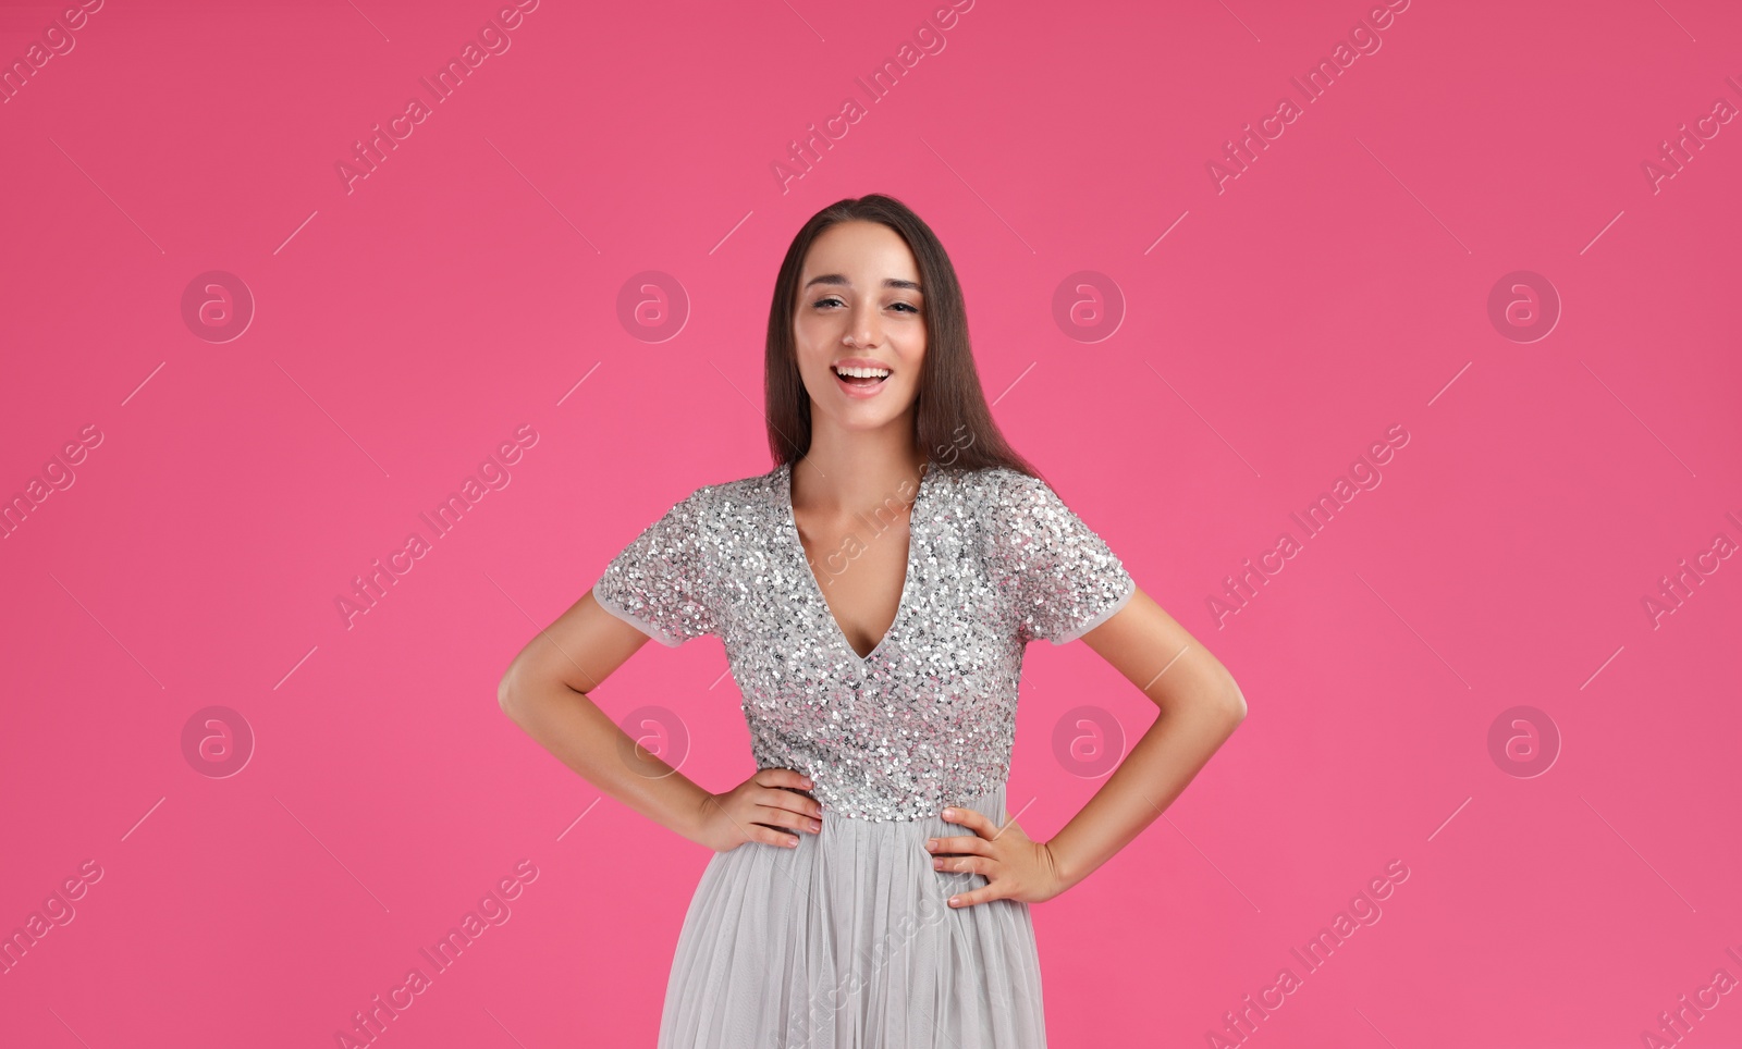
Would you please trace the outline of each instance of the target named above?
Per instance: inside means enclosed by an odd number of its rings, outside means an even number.
[[[922,819],[1009,779],[1024,646],[1082,636],[1136,584],[1016,470],[932,464],[909,521],[895,620],[864,659],[798,538],[787,465],[697,488],[592,592],[665,645],[721,638],[758,768],[803,772],[838,816]]]

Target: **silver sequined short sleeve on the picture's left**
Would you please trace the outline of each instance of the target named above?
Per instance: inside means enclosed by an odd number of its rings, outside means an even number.
[[[699,488],[648,524],[604,566],[592,599],[669,648],[719,633],[704,558],[707,504]]]

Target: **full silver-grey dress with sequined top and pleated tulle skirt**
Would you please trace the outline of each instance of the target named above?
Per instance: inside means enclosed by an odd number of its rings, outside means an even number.
[[[808,775],[824,809],[796,849],[709,859],[660,1049],[1045,1046],[1028,904],[946,906],[986,878],[932,870],[923,845],[974,833],[942,821],[951,805],[1009,819],[1024,646],[1082,636],[1136,585],[1036,477],[928,464],[913,500],[901,601],[868,657],[822,596],[852,547],[812,566],[789,465],[697,488],[592,587],[667,646],[718,636],[756,767]]]

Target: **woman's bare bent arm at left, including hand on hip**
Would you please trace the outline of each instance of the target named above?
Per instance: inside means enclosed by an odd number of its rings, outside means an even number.
[[[789,826],[812,831],[820,807],[786,768],[760,768],[712,795],[636,746],[589,692],[650,638],[594,601],[592,591],[538,633],[496,685],[502,711],[587,782],[685,838],[725,850],[744,842],[789,845]],[[770,826],[773,824],[773,826]]]

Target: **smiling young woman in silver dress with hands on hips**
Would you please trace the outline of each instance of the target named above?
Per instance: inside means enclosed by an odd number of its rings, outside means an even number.
[[[1005,443],[942,246],[833,204],[780,265],[775,467],[648,526],[502,678],[601,791],[714,850],[662,1049],[1045,1046],[1028,904],[1141,833],[1246,716],[1230,673]],[[725,643],[758,772],[711,793],[587,694],[648,638]],[[1005,781],[1024,646],[1082,638],[1160,707],[1050,840]]]

